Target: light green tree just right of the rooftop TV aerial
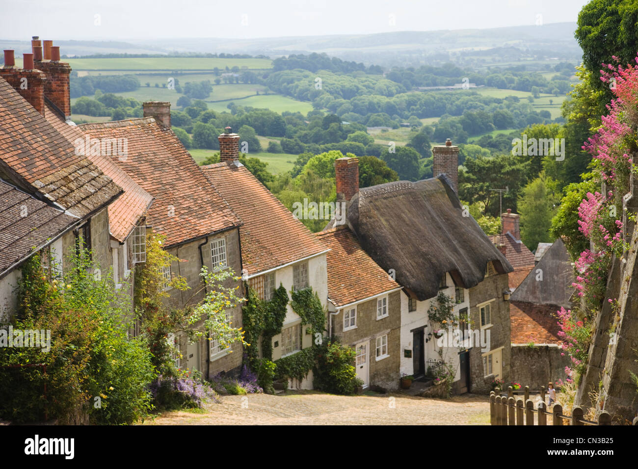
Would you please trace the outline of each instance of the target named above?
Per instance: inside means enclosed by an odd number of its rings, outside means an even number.
[[[531,250],[539,242],[551,242],[552,217],[558,204],[556,182],[541,174],[521,191],[518,211],[521,214],[521,241]]]

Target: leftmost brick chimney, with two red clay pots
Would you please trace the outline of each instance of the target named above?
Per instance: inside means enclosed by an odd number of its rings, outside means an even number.
[[[40,70],[35,70],[33,54],[22,54],[24,68],[15,66],[13,50],[4,51],[4,66],[0,68],[3,77],[22,98],[29,101],[40,114],[44,115],[44,87],[47,77]]]

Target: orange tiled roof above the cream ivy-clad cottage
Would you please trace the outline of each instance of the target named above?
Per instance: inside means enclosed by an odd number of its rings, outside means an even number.
[[[326,250],[243,165],[222,162],[201,168],[244,222],[239,230],[242,266],[249,275]]]

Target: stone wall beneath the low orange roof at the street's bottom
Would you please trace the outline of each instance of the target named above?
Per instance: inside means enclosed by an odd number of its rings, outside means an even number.
[[[565,367],[570,365],[567,354],[561,356],[561,348],[556,344],[534,345],[512,344],[509,381],[516,381],[532,391],[547,383],[567,378]]]

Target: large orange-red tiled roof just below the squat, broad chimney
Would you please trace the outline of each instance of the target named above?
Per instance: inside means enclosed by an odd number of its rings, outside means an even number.
[[[78,127],[91,138],[126,138],[126,157],[112,161],[155,198],[147,222],[166,246],[241,225],[175,133],[152,117]]]

